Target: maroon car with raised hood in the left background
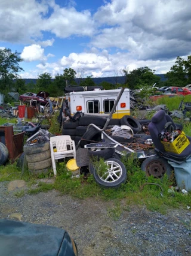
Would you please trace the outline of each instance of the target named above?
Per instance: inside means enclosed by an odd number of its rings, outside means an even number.
[[[28,101],[28,100],[36,100],[39,103],[47,104],[47,98],[49,94],[48,92],[38,92],[38,94],[34,94],[33,92],[26,92],[25,94],[22,94],[19,96],[20,101]]]

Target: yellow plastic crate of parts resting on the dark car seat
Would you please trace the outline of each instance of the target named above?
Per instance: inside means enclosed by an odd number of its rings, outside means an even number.
[[[164,145],[165,151],[180,154],[190,144],[190,141],[182,131],[173,142],[161,141],[161,143]]]

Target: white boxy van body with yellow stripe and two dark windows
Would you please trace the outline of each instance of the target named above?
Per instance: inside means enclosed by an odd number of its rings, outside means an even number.
[[[70,115],[77,111],[84,115],[109,116],[121,89],[69,92],[66,94]],[[112,118],[121,119],[130,115],[130,90],[124,90]]]

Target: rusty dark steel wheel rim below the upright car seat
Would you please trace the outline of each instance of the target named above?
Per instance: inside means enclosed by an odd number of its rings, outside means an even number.
[[[164,176],[166,170],[165,170],[165,165],[158,161],[158,160],[153,160],[146,166],[146,174],[147,176],[153,176],[153,177],[162,177]]]

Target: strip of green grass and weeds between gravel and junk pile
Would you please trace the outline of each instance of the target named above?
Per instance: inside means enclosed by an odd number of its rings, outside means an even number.
[[[131,205],[145,205],[147,209],[153,212],[165,213],[169,208],[175,209],[191,205],[191,195],[184,195],[175,191],[170,194],[168,189],[175,185],[174,179],[169,180],[165,175],[163,179],[155,179],[152,176],[146,177],[145,173],[140,169],[138,161],[133,156],[122,158],[127,168],[127,182],[120,188],[101,188],[94,180],[93,175],[84,173],[79,178],[71,178],[72,174],[67,171],[66,162],[57,163],[57,177],[53,184],[38,182],[39,178],[53,177],[53,171],[47,174],[32,174],[27,171],[21,175],[21,171],[13,165],[0,167],[0,181],[23,179],[28,184],[28,189],[16,192],[16,197],[22,197],[27,194],[36,194],[39,192],[47,192],[51,189],[57,189],[61,194],[69,194],[72,197],[87,198],[99,197],[103,200],[112,200],[113,206],[108,209],[108,215],[117,219],[121,216],[123,210],[130,210]],[[144,183],[157,183],[157,185],[144,185]],[[35,185],[36,184],[36,185]],[[33,186],[35,185],[35,186]],[[122,200],[122,201],[121,201]]]

